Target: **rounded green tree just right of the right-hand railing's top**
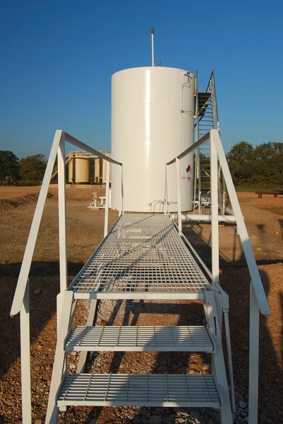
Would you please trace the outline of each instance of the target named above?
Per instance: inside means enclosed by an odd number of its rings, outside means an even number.
[[[226,157],[234,184],[251,182],[254,160],[254,149],[251,143],[247,141],[236,143]]]

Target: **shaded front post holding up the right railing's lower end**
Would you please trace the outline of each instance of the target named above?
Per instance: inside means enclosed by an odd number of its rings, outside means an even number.
[[[248,375],[248,423],[258,424],[258,357],[259,357],[259,307],[250,285],[250,347]]]

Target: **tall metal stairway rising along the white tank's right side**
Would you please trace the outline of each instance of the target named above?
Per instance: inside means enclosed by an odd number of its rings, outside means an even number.
[[[195,71],[195,141],[198,141],[210,129],[219,129],[219,115],[215,85],[215,72],[212,71],[205,92],[198,91],[198,71]],[[218,169],[219,208],[224,214],[226,186],[221,167]],[[198,205],[198,213],[203,213],[202,198],[210,192],[210,145],[201,146],[195,151],[194,202]],[[198,196],[197,196],[198,193]],[[196,200],[198,199],[198,201]]]

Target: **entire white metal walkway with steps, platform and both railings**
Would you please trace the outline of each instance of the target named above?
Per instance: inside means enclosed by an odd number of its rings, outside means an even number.
[[[66,252],[65,141],[107,160],[104,239],[73,282],[68,285]],[[207,269],[182,232],[180,160],[210,141],[212,269]],[[228,296],[219,285],[218,235],[218,160],[222,165],[234,210],[234,220],[251,274],[249,423],[258,422],[258,336],[259,311],[270,314],[251,243],[241,215],[239,201],[229,173],[219,132],[210,130],[193,146],[173,158],[177,176],[177,224],[169,208],[168,172],[165,181],[164,214],[124,214],[123,179],[121,210],[108,231],[110,164],[123,165],[86,146],[64,131],[56,131],[40,196],[32,220],[27,247],[13,299],[11,315],[20,312],[23,424],[31,424],[30,325],[28,275],[40,220],[47,197],[56,154],[59,167],[59,264],[60,293],[57,296],[57,342],[47,407],[47,424],[57,422],[58,412],[68,406],[162,406],[212,407],[219,410],[222,424],[232,424],[234,411],[233,380],[231,402],[222,348],[222,317],[227,338],[228,367],[231,369]],[[231,217],[229,217],[231,219]],[[85,326],[73,329],[77,300],[89,299],[90,311]],[[100,299],[189,299],[201,301],[205,326],[94,326],[97,300]],[[67,353],[80,352],[76,372],[68,374]],[[210,374],[87,374],[88,351],[186,351],[207,352],[212,358]]]

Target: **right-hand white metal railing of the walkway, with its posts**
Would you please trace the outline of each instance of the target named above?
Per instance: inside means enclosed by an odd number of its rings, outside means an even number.
[[[258,272],[258,267],[255,262],[253,249],[248,237],[246,225],[243,220],[239,200],[236,196],[236,190],[231,178],[229,167],[227,164],[226,156],[223,150],[222,142],[217,129],[211,129],[191,147],[180,153],[176,158],[173,158],[166,164],[165,172],[165,199],[164,204],[167,205],[169,213],[169,191],[168,191],[168,167],[176,163],[176,181],[177,181],[177,204],[178,204],[178,230],[181,237],[182,223],[181,223],[181,190],[179,181],[179,161],[188,153],[192,153],[204,143],[210,141],[210,196],[211,196],[211,235],[212,235],[212,271],[209,275],[212,280],[212,287],[219,290],[219,209],[218,209],[218,163],[222,167],[222,175],[227,187],[229,199],[231,201],[231,208],[234,211],[234,218],[238,228],[238,233],[243,246],[243,252],[246,257],[248,271],[251,275],[250,285],[250,339],[249,339],[249,392],[248,392],[248,423],[258,423],[258,357],[259,357],[259,312],[263,315],[270,315],[270,307],[267,302],[263,283]],[[185,237],[184,237],[185,238]],[[186,240],[189,247],[192,249],[191,244]],[[195,252],[196,253],[196,252]],[[198,257],[198,259],[200,259]],[[201,263],[201,262],[200,262]],[[207,267],[205,266],[205,271]],[[225,317],[225,314],[224,314]],[[227,329],[228,323],[225,321],[225,328]],[[229,334],[228,334],[229,337]],[[231,370],[231,358],[229,359],[229,370]],[[231,373],[231,371],[230,371]],[[232,399],[233,404],[233,399]]]

